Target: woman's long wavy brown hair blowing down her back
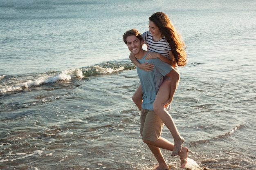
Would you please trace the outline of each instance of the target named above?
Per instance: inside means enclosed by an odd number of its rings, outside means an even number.
[[[173,53],[173,57],[170,56],[170,59],[173,58],[173,62],[175,60],[178,66],[185,66],[187,63],[186,44],[177,33],[168,16],[163,12],[156,12],[149,17],[149,20],[154,22],[162,36],[164,36],[169,43]]]

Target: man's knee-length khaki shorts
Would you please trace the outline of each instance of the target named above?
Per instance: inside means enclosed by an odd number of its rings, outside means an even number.
[[[140,134],[142,139],[157,141],[161,136],[164,123],[154,110],[141,109]]]

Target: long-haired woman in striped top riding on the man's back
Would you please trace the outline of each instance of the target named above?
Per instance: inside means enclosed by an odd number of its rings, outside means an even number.
[[[185,44],[168,16],[162,12],[154,13],[149,18],[148,26],[149,31],[144,32],[142,36],[148,51],[153,53],[148,53],[146,59],[159,58],[176,70],[178,70],[177,66],[185,66],[187,62]],[[130,53],[130,60],[144,71],[152,71],[154,68],[152,64],[147,62],[140,64],[132,53]],[[175,86],[178,86],[178,84],[175,84]],[[172,156],[175,156],[180,153],[184,138],[180,136],[171,115],[167,111],[169,108],[166,107],[171,104],[173,98],[169,98],[170,95],[166,93],[166,89],[171,91],[173,88],[171,87],[171,79],[164,77],[163,83],[157,92],[153,108],[173,136],[174,148]],[[142,95],[142,88],[139,86],[132,96],[132,100],[139,110],[141,110]]]

